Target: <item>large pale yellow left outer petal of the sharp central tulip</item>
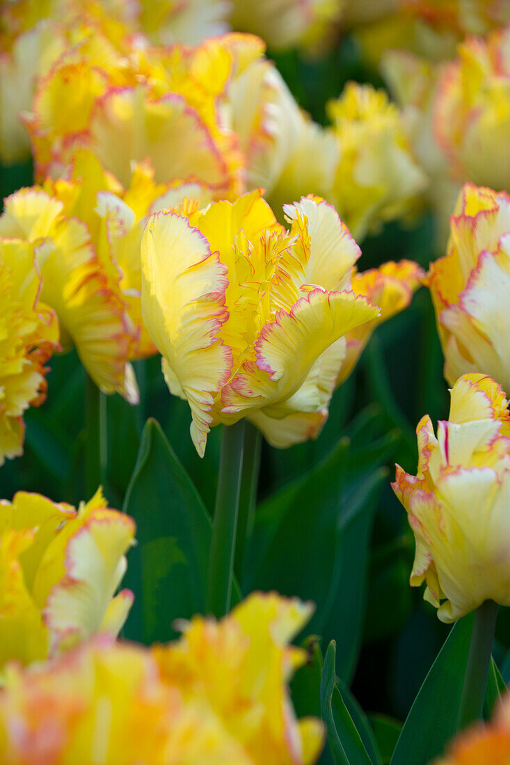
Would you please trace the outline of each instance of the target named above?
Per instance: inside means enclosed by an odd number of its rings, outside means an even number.
[[[217,339],[227,318],[225,274],[217,253],[185,217],[156,213],[149,219],[142,239],[143,318],[188,399],[191,438],[199,454],[214,394],[232,366],[230,349]]]

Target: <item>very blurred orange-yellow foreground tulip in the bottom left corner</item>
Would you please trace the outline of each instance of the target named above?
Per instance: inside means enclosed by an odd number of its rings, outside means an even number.
[[[10,667],[5,765],[250,765],[211,711],[159,679],[148,649],[96,639],[49,665]]]

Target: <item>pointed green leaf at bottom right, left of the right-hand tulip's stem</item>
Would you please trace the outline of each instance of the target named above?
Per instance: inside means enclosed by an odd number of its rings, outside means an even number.
[[[463,617],[450,630],[407,715],[391,765],[427,765],[456,734],[473,618]]]

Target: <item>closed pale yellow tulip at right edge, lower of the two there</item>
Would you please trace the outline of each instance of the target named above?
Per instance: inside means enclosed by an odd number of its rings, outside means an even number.
[[[434,435],[425,415],[417,439],[417,475],[397,465],[392,484],[416,541],[411,586],[427,582],[424,597],[444,622],[486,600],[510,605],[505,393],[487,375],[462,376],[451,390],[449,420]]]

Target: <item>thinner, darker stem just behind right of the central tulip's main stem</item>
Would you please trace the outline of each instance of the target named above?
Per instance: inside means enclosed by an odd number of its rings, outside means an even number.
[[[257,489],[259,486],[260,452],[262,451],[262,434],[255,425],[246,422],[244,425],[244,454],[241,471],[239,513],[237,518],[237,542],[234,558],[234,571],[240,580],[243,577],[244,552],[251,539],[253,519],[257,506]]]

